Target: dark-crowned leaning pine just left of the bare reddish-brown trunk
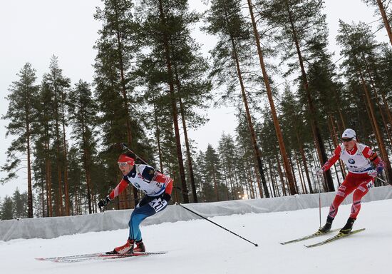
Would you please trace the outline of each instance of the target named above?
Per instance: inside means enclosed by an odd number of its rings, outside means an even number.
[[[262,165],[259,148],[257,147],[257,137],[254,132],[254,125],[249,110],[249,95],[245,90],[244,72],[241,62],[249,62],[249,24],[242,15],[240,2],[238,0],[215,0],[212,1],[210,11],[208,11],[208,25],[205,30],[209,34],[219,35],[220,41],[212,51],[214,58],[214,69],[212,76],[217,76],[217,83],[228,83],[228,91],[235,91],[234,80],[239,82],[242,94],[242,101],[247,115],[247,124],[252,140],[254,157],[257,161],[259,174],[262,178],[264,193],[269,198],[267,182],[265,181],[264,168]],[[230,92],[231,93],[231,92]],[[227,94],[225,98],[232,96]]]

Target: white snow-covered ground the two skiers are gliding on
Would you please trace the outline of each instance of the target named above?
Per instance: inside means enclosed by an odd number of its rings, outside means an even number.
[[[206,220],[161,223],[142,228],[148,251],[165,255],[53,263],[34,258],[96,253],[125,243],[128,230],[66,235],[53,239],[0,241],[1,273],[389,273],[392,248],[392,200],[363,203],[354,228],[365,231],[316,248],[329,236],[280,245],[313,233],[319,227],[319,209],[278,213],[248,213],[211,218],[238,238]],[[322,208],[324,223],[328,208]],[[346,223],[350,205],[341,205],[333,228]]]

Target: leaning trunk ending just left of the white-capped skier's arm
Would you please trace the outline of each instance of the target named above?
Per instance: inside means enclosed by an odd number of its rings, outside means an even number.
[[[324,163],[326,163],[326,161],[328,161],[328,158],[326,156],[323,139],[321,138],[321,132],[319,129],[319,125],[316,120],[316,117],[317,117],[316,116],[316,108],[314,107],[313,99],[311,98],[311,93],[309,91],[309,83],[308,83],[308,79],[306,76],[304,61],[302,59],[302,54],[301,54],[301,49],[299,49],[299,41],[296,36],[296,29],[295,29],[294,21],[292,18],[293,17],[292,11],[290,10],[289,2],[287,0],[286,0],[286,6],[287,6],[287,12],[289,14],[290,25],[292,28],[293,40],[294,40],[294,44],[296,46],[296,53],[297,53],[298,59],[299,59],[299,66],[301,67],[302,81],[304,81],[304,89],[306,92],[306,99],[308,101],[308,106],[309,106],[310,121],[311,121],[311,126],[313,129],[313,133],[314,133],[314,142],[316,144],[317,153],[319,155],[319,161],[322,166]],[[324,174],[325,174],[328,190],[335,191],[334,181],[332,180],[331,171],[326,171]]]

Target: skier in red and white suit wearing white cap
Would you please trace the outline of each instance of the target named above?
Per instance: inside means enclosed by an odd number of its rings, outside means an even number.
[[[344,161],[346,167],[349,169],[349,174],[347,174],[346,179],[339,186],[334,201],[329,208],[326,224],[319,229],[322,233],[331,230],[332,221],[338,213],[339,205],[344,201],[346,196],[354,191],[350,217],[346,225],[344,225],[344,228],[340,230],[341,233],[345,234],[351,232],[356,216],[359,210],[361,210],[361,198],[368,193],[378,173],[381,173],[385,167],[385,163],[377,153],[371,151],[371,148],[368,146],[357,143],[356,133],[351,128],[347,128],[344,131],[341,136],[341,141],[343,143],[335,149],[334,156],[326,161],[322,168],[316,171],[317,175],[321,175],[324,171],[328,171],[339,158]],[[376,169],[373,168],[372,163],[376,166]]]

